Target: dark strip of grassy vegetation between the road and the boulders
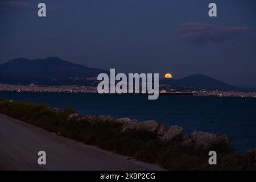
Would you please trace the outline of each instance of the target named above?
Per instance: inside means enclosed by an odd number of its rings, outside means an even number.
[[[189,136],[163,140],[156,131],[124,130],[125,122],[109,116],[79,116],[73,109],[0,99],[0,113],[41,127],[57,135],[127,155],[170,170],[255,170],[255,151],[237,155],[226,139],[214,140],[207,148],[195,147]],[[24,141],[26,142],[26,141]],[[209,165],[208,152],[217,152],[217,165]]]

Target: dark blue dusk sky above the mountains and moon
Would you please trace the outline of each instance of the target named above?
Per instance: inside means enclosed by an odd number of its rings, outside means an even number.
[[[210,2],[217,17],[208,16]],[[202,73],[256,87],[255,0],[0,0],[0,24],[0,63],[57,56],[117,72]]]

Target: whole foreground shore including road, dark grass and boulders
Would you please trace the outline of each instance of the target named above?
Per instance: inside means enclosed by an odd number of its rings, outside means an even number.
[[[125,157],[69,140],[75,139],[170,170],[256,169],[255,151],[238,155],[225,135],[192,131],[184,136],[182,127],[164,129],[155,121],[138,122],[104,115],[82,116],[72,109],[51,109],[9,100],[0,100],[0,113],[44,129],[9,117],[1,119],[0,162],[5,168],[39,169],[37,152],[44,150],[48,151],[49,158],[46,169],[160,169],[135,164]],[[208,163],[208,154],[212,150],[217,152],[216,165]]]

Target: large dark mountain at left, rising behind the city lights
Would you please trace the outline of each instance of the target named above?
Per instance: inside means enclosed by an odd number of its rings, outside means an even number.
[[[59,57],[28,60],[19,58],[0,64],[0,82],[8,84],[86,84],[84,78],[108,71],[70,63]]]

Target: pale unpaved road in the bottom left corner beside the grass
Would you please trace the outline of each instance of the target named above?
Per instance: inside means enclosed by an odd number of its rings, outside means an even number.
[[[162,170],[0,114],[1,170]],[[47,164],[38,164],[38,151]]]

